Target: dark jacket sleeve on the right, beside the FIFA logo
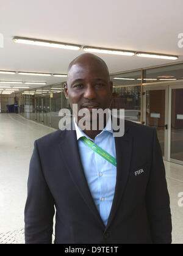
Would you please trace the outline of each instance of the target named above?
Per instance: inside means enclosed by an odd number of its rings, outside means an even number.
[[[151,173],[146,189],[146,207],[152,242],[159,244],[171,243],[170,197],[156,129],[154,129]]]

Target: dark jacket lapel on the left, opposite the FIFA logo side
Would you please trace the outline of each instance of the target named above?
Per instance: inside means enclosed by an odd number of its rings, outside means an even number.
[[[76,131],[63,131],[62,142],[59,144],[62,160],[70,172],[71,178],[74,181],[78,191],[80,192],[85,203],[94,214],[96,220],[101,225],[102,229],[105,228],[101,216],[98,213],[93,197],[91,196],[90,189],[88,188],[87,180],[85,178],[84,170],[79,155],[79,148],[77,145]]]

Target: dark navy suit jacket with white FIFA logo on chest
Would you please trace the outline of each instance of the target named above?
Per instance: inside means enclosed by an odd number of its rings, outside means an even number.
[[[87,185],[76,131],[34,144],[25,207],[26,243],[171,243],[170,199],[156,129],[125,121],[115,137],[117,183],[107,226]]]

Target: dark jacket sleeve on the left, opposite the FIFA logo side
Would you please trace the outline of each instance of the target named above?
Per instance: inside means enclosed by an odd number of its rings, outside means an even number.
[[[54,199],[41,170],[37,141],[30,159],[27,184],[27,200],[24,210],[26,244],[52,243]]]

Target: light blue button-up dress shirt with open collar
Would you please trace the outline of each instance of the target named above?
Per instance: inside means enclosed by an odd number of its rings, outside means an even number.
[[[106,127],[99,133],[95,140],[88,137],[76,124],[77,143],[79,146],[79,153],[81,155],[81,162],[84,168],[85,177],[87,179],[88,187],[90,188],[91,196],[95,202],[96,208],[99,211],[102,221],[107,225],[107,221],[112,207],[113,196],[115,192],[117,167],[110,164],[102,156],[91,150],[88,145],[80,140],[82,136],[87,137],[96,145],[101,147],[107,153],[116,158],[115,140],[113,137],[112,122],[109,118]]]

